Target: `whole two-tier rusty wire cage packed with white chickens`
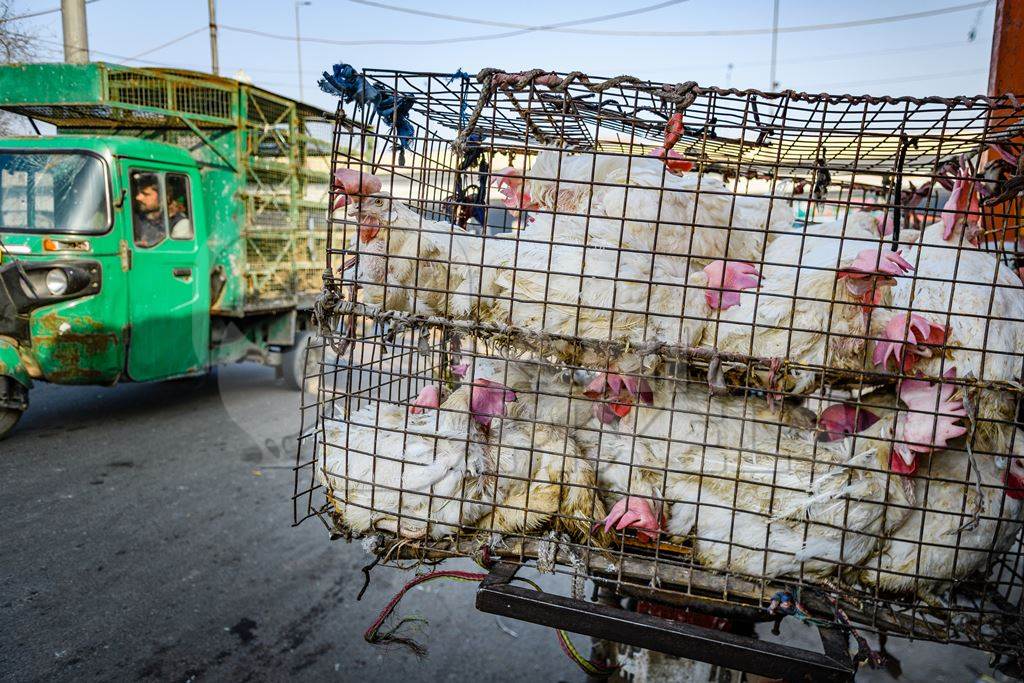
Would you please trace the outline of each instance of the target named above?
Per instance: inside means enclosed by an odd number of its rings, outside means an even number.
[[[296,521],[1020,653],[1015,98],[361,76]]]

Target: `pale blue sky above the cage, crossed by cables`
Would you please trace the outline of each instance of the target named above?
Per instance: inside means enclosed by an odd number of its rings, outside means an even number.
[[[657,0],[381,0],[453,15],[539,25],[598,16],[658,4]],[[633,16],[579,28],[616,31],[712,31],[771,27],[773,0],[688,0]],[[779,26],[793,27],[914,13],[967,4],[968,0],[780,0]],[[47,9],[57,0],[14,0],[14,13]],[[88,5],[94,59],[208,71],[207,0],[96,0]],[[223,75],[244,69],[270,90],[298,95],[294,40],[240,33],[230,27],[294,38],[293,0],[218,0]],[[872,94],[977,94],[986,90],[994,2],[945,14],[847,29],[783,33],[777,78],[783,88]],[[43,54],[59,59],[60,15],[27,19]],[[348,0],[311,0],[301,8],[304,38],[331,40],[447,39],[507,33],[509,29],[415,16]],[[968,40],[977,28],[973,42]],[[201,30],[202,29],[202,30]],[[198,31],[153,50],[189,31]],[[45,41],[45,42],[44,42]],[[153,50],[153,51],[150,51]],[[142,53],[145,54],[142,54]],[[109,54],[105,54],[109,53]],[[338,46],[304,42],[305,98],[330,106],[316,88],[324,69],[339,60],[356,67],[475,73],[482,67],[509,70],[581,70],[602,76],[623,73],[658,81],[695,80],[705,85],[767,88],[768,35],[714,37],[594,36],[551,32],[435,45]],[[119,56],[112,56],[119,55]],[[728,65],[734,67],[731,75]]]

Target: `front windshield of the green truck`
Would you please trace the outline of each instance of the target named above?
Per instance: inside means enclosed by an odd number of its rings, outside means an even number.
[[[86,154],[0,152],[0,230],[105,232],[103,162]]]

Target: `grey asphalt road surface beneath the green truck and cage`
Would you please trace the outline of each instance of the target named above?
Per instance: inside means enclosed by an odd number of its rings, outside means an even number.
[[[0,679],[584,680],[551,631],[475,611],[467,584],[403,601],[402,613],[428,621],[425,658],[367,644],[411,577],[375,569],[357,602],[361,546],[330,542],[315,519],[292,526],[299,398],[272,371],[41,386],[31,399],[0,441]],[[813,642],[784,627],[783,638]],[[890,650],[901,680],[986,671],[984,655],[959,648]]]

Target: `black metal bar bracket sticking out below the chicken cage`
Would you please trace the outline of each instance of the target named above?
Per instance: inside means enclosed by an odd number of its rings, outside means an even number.
[[[857,670],[845,634],[836,629],[818,630],[822,654],[512,586],[517,568],[508,562],[495,564],[476,591],[476,608],[786,681],[852,681]]]

